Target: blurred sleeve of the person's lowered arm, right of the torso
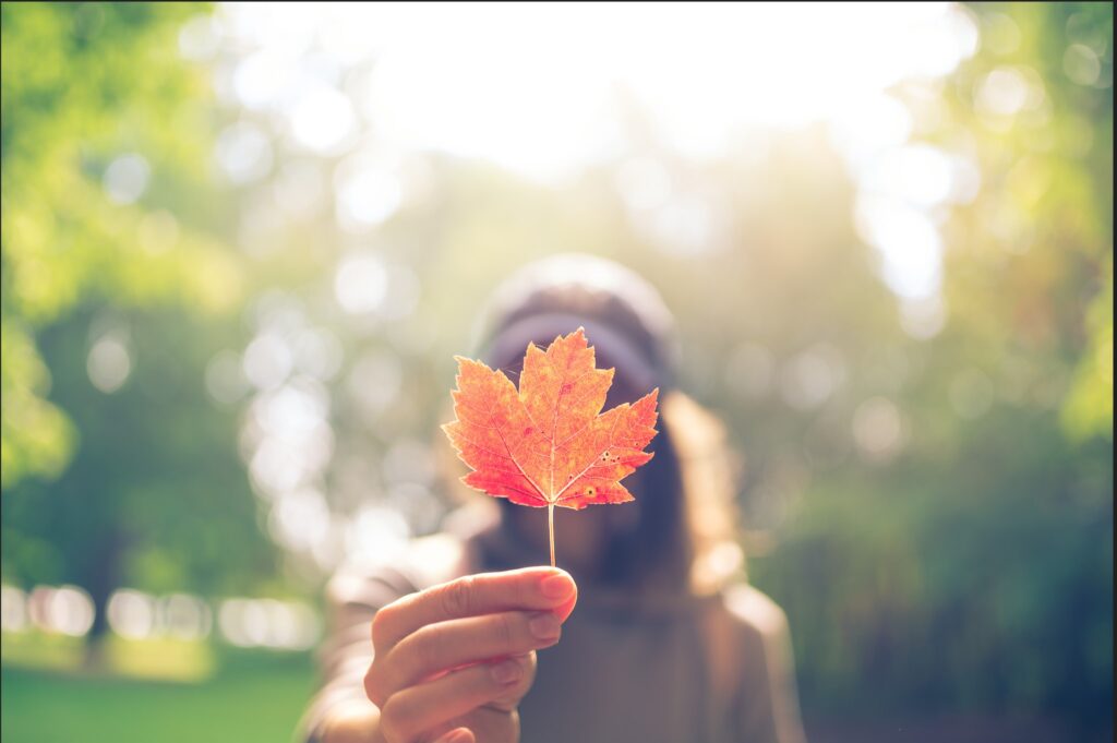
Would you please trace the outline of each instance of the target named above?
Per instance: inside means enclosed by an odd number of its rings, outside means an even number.
[[[783,610],[761,591],[741,585],[726,594],[739,627],[739,684],[734,724],[741,743],[804,743]]]

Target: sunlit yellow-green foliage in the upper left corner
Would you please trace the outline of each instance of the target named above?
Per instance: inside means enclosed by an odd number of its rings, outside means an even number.
[[[6,486],[60,473],[78,434],[46,399],[36,328],[83,301],[203,311],[236,302],[228,254],[157,208],[203,192],[208,177],[207,78],[180,64],[174,44],[197,12],[185,3],[2,7]],[[112,159],[126,153],[144,159],[143,203],[117,203],[102,185]]]

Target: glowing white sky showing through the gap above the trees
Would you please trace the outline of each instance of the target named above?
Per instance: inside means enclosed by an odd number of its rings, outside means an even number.
[[[943,317],[934,212],[972,198],[980,173],[913,142],[911,113],[889,88],[934,84],[977,45],[972,13],[953,2],[225,3],[180,36],[183,55],[213,61],[218,93],[246,112],[218,141],[229,177],[264,177],[277,145],[341,156],[332,193],[313,172],[288,173],[276,198],[290,213],[332,198],[350,230],[401,206],[393,169],[408,153],[486,159],[561,184],[624,155],[626,107],[691,158],[716,158],[741,131],[824,124],[858,185],[859,231],[909,332],[924,336]],[[107,185],[126,196],[123,175]],[[708,249],[709,204],[669,187],[656,162],[618,172],[666,249]],[[249,228],[271,219],[258,211]]]

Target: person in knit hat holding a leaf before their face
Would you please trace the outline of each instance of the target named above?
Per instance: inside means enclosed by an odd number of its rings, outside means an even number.
[[[658,387],[655,456],[624,480],[634,502],[557,509],[560,569],[534,566],[546,509],[478,495],[391,569],[340,571],[305,740],[803,741],[787,623],[742,578],[720,427],[676,387],[656,290],[564,255],[510,277],[483,317],[479,355],[513,380],[528,342],[581,326],[615,368],[605,409]]]

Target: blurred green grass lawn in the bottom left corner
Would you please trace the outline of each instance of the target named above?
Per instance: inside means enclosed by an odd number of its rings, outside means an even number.
[[[4,743],[292,740],[313,692],[308,654],[222,650],[204,680],[170,682],[4,663]]]

